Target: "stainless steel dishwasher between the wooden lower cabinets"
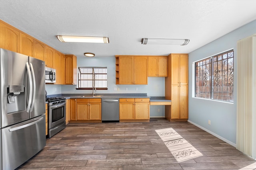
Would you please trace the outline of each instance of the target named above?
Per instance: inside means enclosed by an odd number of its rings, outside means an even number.
[[[119,122],[119,98],[101,99],[102,122]]]

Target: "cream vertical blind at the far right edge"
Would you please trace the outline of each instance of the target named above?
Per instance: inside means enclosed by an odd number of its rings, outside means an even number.
[[[256,158],[256,37],[237,42],[236,147]]]

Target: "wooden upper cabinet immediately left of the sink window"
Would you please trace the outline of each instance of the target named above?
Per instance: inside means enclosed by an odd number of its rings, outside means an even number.
[[[76,56],[65,55],[65,84],[76,85]]]

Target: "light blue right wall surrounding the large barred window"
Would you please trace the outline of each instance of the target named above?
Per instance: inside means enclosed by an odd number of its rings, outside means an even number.
[[[212,33],[214,33],[214,28]],[[219,39],[189,53],[189,98],[188,98],[188,120],[200,127],[220,136],[236,145],[236,89],[237,89],[237,54],[236,42],[239,39],[256,33],[256,20],[244,25]],[[193,98],[193,62],[209,57],[211,55],[234,49],[234,104]],[[208,120],[211,125],[208,125]],[[233,146],[234,146],[233,145]]]

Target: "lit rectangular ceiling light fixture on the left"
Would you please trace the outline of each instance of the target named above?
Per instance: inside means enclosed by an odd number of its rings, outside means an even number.
[[[58,40],[61,42],[72,43],[109,43],[108,37],[82,37],[82,36],[65,36],[57,35]]]

